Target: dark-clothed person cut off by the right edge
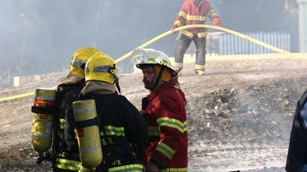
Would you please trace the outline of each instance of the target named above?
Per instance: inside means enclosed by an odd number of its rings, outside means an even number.
[[[286,163],[287,172],[307,172],[307,89],[297,103]]]

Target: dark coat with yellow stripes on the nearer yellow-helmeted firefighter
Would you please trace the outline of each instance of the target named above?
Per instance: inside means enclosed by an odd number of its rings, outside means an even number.
[[[143,144],[148,139],[148,126],[137,108],[126,97],[116,93],[87,94],[80,99],[95,99],[102,141],[102,164],[98,172],[130,170],[142,172],[141,155],[134,145]],[[65,140],[71,151],[78,151],[74,133],[74,114],[71,107],[65,124]],[[95,157],[93,157],[95,158]],[[120,163],[118,163],[120,162]]]

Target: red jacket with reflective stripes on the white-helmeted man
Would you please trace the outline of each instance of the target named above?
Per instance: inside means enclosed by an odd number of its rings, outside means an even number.
[[[162,172],[187,172],[188,133],[186,99],[179,84],[171,80],[148,96],[141,114],[149,126],[149,140],[144,146],[145,167],[154,161]],[[143,106],[144,107],[144,106]]]

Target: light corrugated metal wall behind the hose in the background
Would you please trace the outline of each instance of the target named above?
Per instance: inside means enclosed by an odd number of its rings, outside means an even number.
[[[243,33],[263,43],[290,51],[290,34],[284,32],[269,33]],[[209,33],[207,36],[208,54],[215,55],[234,55],[234,54],[266,54],[276,53],[273,50],[252,43],[238,36],[216,32]]]

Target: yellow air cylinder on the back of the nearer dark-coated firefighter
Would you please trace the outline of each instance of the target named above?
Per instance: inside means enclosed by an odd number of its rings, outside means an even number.
[[[89,126],[89,121],[97,121],[94,99],[73,102],[77,139],[82,165],[93,169],[102,162],[102,147],[98,125]],[[87,121],[87,123],[85,123]],[[87,127],[84,127],[87,126]]]

